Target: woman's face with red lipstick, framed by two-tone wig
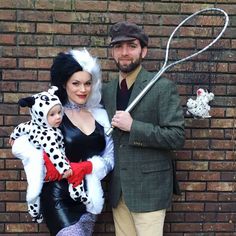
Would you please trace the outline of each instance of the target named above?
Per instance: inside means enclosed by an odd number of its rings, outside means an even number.
[[[66,93],[70,102],[83,105],[92,90],[92,76],[87,71],[75,72],[67,81]]]

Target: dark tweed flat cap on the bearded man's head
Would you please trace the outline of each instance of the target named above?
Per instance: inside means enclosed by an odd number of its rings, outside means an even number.
[[[118,22],[114,24],[109,32],[111,37],[110,46],[122,42],[138,39],[144,46],[148,45],[148,36],[141,27],[130,22]]]

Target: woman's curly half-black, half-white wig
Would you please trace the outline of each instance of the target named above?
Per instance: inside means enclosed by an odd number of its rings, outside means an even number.
[[[87,71],[92,76],[91,94],[85,104],[87,108],[100,106],[101,101],[101,69],[95,57],[92,57],[86,49],[70,50],[59,53],[51,67],[51,83],[58,87],[56,95],[62,105],[68,102],[65,85],[70,77],[78,71]]]

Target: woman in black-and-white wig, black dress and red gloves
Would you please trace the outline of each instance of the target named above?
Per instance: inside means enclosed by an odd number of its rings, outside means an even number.
[[[58,87],[56,94],[64,107],[60,129],[73,174],[68,181],[58,176],[58,180],[44,183],[42,213],[51,235],[92,235],[104,202],[100,181],[114,166],[113,142],[105,135],[110,123],[100,105],[100,67],[85,49],[59,53],[51,67],[51,82]],[[13,153],[18,145],[20,140],[15,141]],[[31,149],[29,144],[28,155]],[[47,179],[55,180],[52,168],[46,167]],[[89,210],[81,201],[73,201],[68,192],[68,182],[77,185],[84,178]]]

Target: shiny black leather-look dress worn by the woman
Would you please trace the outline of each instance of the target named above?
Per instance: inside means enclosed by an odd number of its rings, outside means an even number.
[[[100,155],[105,149],[104,129],[96,121],[95,130],[90,135],[85,135],[74,126],[66,115],[60,128],[64,136],[66,157],[71,162],[87,160],[93,155]],[[86,189],[86,183],[84,187]],[[44,183],[41,208],[51,235],[75,224],[86,213],[85,205],[70,197],[66,179]]]

